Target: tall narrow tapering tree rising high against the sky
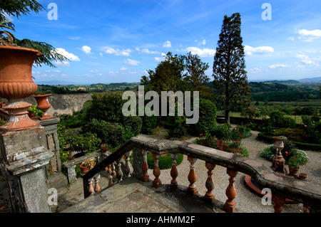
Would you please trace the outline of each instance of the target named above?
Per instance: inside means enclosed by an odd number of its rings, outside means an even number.
[[[224,16],[222,30],[213,63],[213,88],[217,105],[223,106],[225,119],[230,122],[230,111],[250,102],[250,86],[245,70],[240,14]]]

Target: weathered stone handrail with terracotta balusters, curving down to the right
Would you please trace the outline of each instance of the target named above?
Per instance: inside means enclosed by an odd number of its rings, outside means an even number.
[[[272,191],[272,201],[275,203],[275,212],[282,211],[282,205],[285,204],[285,198],[301,202],[305,206],[310,206],[312,211],[314,209],[320,210],[321,208],[320,189],[317,189],[307,181],[301,181],[289,176],[276,174],[275,171],[272,171],[272,169],[258,161],[255,161],[254,159],[241,157],[237,154],[228,152],[222,152],[218,149],[204,147],[190,142],[157,140],[143,135],[129,139],[116,152],[113,152],[106,159],[97,164],[96,167],[91,169],[91,171],[88,171],[88,173],[83,176],[84,183],[117,159],[121,159],[126,152],[130,152],[132,149],[133,176],[143,181],[148,181],[146,154],[147,152],[152,153],[155,162],[155,167],[153,169],[153,174],[155,176],[153,186],[156,188],[161,186],[161,180],[159,179],[161,172],[158,168],[158,157],[160,157],[161,154],[167,153],[172,155],[173,166],[170,171],[170,175],[173,177],[173,180],[171,181],[171,187],[175,189],[178,184],[175,180],[177,176],[177,169],[175,167],[175,160],[177,159],[176,154],[182,153],[187,155],[188,161],[190,162],[190,173],[188,174],[190,185],[188,186],[188,191],[192,194],[195,194],[195,191],[197,190],[194,186],[196,177],[194,171],[195,159],[204,160],[205,166],[208,168],[208,179],[206,181],[206,188],[208,191],[205,194],[205,198],[210,200],[213,200],[212,190],[214,189],[213,180],[211,179],[211,171],[215,168],[215,165],[226,167],[227,173],[230,176],[230,184],[226,190],[226,196],[228,199],[224,206],[226,211],[235,211],[235,202],[233,199],[235,199],[236,190],[233,182],[238,171],[251,176],[258,182],[261,189],[269,188]],[[88,191],[88,184],[83,185],[86,197],[89,195],[88,192],[86,192]]]

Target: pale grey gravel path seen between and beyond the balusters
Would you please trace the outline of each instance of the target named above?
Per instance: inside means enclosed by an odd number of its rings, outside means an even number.
[[[252,136],[243,139],[243,146],[247,147],[250,151],[250,158],[257,159],[260,162],[263,162],[267,167],[270,167],[271,162],[267,161],[260,157],[260,151],[263,147],[268,146],[265,142],[260,142],[256,139],[258,132],[253,132]],[[193,138],[194,139],[194,138]],[[193,139],[190,139],[192,141]],[[300,172],[305,172],[308,174],[307,181],[310,181],[315,186],[321,186],[321,152],[307,152],[309,162],[304,166],[300,167]],[[178,165],[178,184],[183,186],[188,186],[190,183],[188,181],[188,173],[190,170],[190,163],[187,160],[187,157],[184,156],[183,162]],[[205,181],[207,179],[207,171],[205,168],[205,161],[198,159],[195,162],[195,174],[197,176],[197,181],[195,185],[198,188],[198,193],[204,195],[207,189],[205,188]],[[153,180],[153,169],[148,170],[150,178]],[[235,189],[237,191],[237,196],[235,198],[236,208],[239,212],[243,213],[270,213],[274,212],[273,206],[263,205],[262,199],[260,196],[257,196],[252,191],[250,191],[244,183],[245,174],[239,172],[235,177]],[[229,176],[226,174],[226,168],[216,166],[213,170],[213,181],[215,184],[215,189],[213,194],[215,194],[215,199],[225,202],[227,199],[225,195],[225,189],[228,186]],[[170,184],[170,169],[161,170],[161,181],[163,184]],[[285,204],[283,206],[283,212],[302,212],[302,204]]]

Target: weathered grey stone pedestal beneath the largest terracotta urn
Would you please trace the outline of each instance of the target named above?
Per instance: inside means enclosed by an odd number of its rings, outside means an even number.
[[[51,212],[45,167],[53,157],[53,152],[45,147],[44,127],[15,132],[0,131],[0,145],[2,167],[8,176],[7,184],[14,191],[11,197],[14,211]]]

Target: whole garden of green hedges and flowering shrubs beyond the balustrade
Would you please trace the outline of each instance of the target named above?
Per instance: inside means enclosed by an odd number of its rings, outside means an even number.
[[[73,115],[60,115],[58,123],[58,139],[61,147],[61,162],[73,157],[98,152],[102,144],[113,152],[138,134],[148,134],[156,139],[190,139],[195,144],[212,147],[224,152],[249,157],[248,148],[242,140],[250,137],[251,130],[259,131],[258,139],[272,144],[272,137],[285,136],[285,148],[282,155],[286,164],[297,166],[305,164],[307,155],[302,149],[320,149],[321,123],[320,117],[302,115],[305,125],[297,125],[283,112],[275,110],[259,123],[250,122],[232,128],[227,124],[216,122],[217,109],[210,100],[200,98],[199,121],[195,125],[185,123],[184,116],[124,116],[121,107],[122,93],[94,93],[92,99],[83,110]],[[261,152],[262,157],[271,161],[275,148],[270,145]],[[177,164],[183,161],[178,156]],[[159,159],[160,169],[171,167],[170,155]],[[153,169],[153,157],[148,154],[148,167]],[[79,174],[80,169],[76,167]]]

